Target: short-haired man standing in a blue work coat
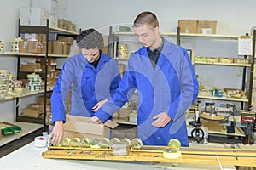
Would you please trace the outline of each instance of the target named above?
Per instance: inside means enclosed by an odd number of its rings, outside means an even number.
[[[167,145],[178,139],[189,145],[185,111],[195,101],[198,82],[185,49],[160,37],[154,14],[143,12],[133,28],[143,44],[131,55],[125,75],[113,95],[90,122],[105,122],[137,88],[137,135],[146,145]]]

